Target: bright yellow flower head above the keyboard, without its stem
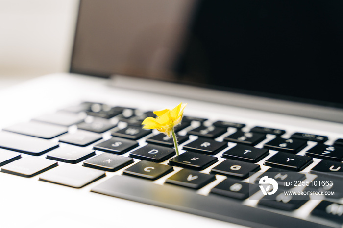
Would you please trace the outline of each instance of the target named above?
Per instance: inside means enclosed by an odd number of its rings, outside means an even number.
[[[181,123],[183,110],[185,109],[186,105],[187,104],[180,103],[178,106],[173,108],[173,110],[165,109],[161,111],[154,111],[154,114],[158,117],[147,117],[142,122],[142,125],[145,125],[143,128],[157,129],[158,131],[166,134],[168,137],[171,137],[173,128]]]

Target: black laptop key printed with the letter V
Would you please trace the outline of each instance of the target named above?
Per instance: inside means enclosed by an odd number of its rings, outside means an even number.
[[[166,180],[166,183],[199,189],[216,180],[215,175],[199,173],[189,169],[181,169]]]

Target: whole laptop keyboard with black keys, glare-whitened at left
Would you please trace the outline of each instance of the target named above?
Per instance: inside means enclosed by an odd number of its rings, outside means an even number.
[[[95,182],[90,194],[252,227],[342,226],[342,138],[329,145],[328,137],[315,133],[285,138],[282,129],[246,129],[245,123],[186,115],[175,128],[182,149],[176,156],[172,138],[142,129],[148,116],[155,117],[151,111],[83,102],[6,127],[0,132],[1,172],[73,188]],[[290,189],[285,183],[306,181],[307,173],[318,175],[314,180],[320,183],[335,180],[332,188],[308,189],[335,195],[251,198],[264,174],[275,174],[279,187]],[[296,215],[302,207],[306,218]]]

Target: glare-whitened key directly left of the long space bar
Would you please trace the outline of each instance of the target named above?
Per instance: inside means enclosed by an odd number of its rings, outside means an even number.
[[[105,171],[102,170],[91,169],[72,164],[64,164],[42,174],[39,177],[39,180],[62,184],[74,188],[81,188],[105,176]]]

